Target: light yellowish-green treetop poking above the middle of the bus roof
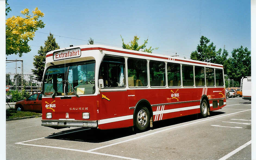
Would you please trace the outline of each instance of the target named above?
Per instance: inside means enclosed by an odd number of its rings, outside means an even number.
[[[123,37],[122,37],[121,35],[120,35],[120,37],[121,37],[122,42],[123,42],[123,45],[122,45],[122,46],[123,46],[123,49],[130,49],[130,50],[137,50],[137,51],[141,50],[142,52],[152,53],[153,50],[157,50],[157,49],[159,48],[159,47],[157,47],[157,48],[152,48],[152,47],[150,46],[150,47],[147,49],[147,48],[146,48],[146,44],[148,43],[148,39],[144,40],[144,43],[143,43],[141,46],[139,46],[138,40],[139,40],[140,37],[138,37],[137,35],[135,35],[134,38],[133,38],[133,40],[129,42],[131,45],[129,45],[129,43],[128,43],[128,44],[125,44]]]

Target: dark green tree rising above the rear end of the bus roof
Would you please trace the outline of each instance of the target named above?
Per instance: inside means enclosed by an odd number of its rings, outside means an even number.
[[[214,62],[216,57],[216,46],[214,46],[213,42],[207,45],[209,42],[210,39],[202,36],[200,38],[200,44],[198,44],[196,50],[191,53],[190,59]]]

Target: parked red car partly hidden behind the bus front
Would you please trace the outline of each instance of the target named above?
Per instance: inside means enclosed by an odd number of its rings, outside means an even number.
[[[22,101],[18,101],[15,104],[15,110],[42,111],[42,93],[34,93],[30,95],[29,98]]]

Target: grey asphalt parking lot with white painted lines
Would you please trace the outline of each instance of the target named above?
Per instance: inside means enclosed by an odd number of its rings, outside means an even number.
[[[227,99],[207,118],[197,114],[131,128],[51,129],[41,118],[6,122],[6,159],[251,159],[251,101]]]

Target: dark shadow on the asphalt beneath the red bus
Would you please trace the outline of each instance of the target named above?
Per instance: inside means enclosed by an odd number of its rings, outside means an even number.
[[[212,111],[210,116],[216,116],[224,114],[225,112],[221,111]],[[180,124],[184,122],[189,122],[193,120],[201,119],[200,114],[193,114],[189,116],[182,116],[167,120],[156,121],[153,123],[153,128],[158,129],[161,127],[172,126],[175,124]],[[126,137],[130,135],[135,135],[132,127],[120,128],[120,129],[108,129],[108,130],[99,130],[99,129],[88,129],[88,128],[76,128],[64,130],[57,133],[52,133],[45,138],[49,139],[60,139],[60,140],[70,140],[70,141],[79,141],[79,142],[90,142],[90,143],[101,143],[113,139],[118,139],[121,137]]]

